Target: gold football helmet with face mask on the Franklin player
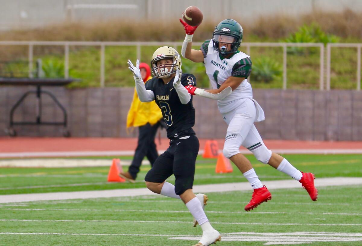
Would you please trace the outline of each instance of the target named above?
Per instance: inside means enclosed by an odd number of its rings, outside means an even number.
[[[170,65],[157,66],[157,61],[163,59],[172,59],[173,62]],[[168,78],[172,73],[176,73],[177,68],[181,68],[181,57],[176,49],[169,46],[163,46],[156,49],[155,53],[152,55],[151,60],[153,77]]]

